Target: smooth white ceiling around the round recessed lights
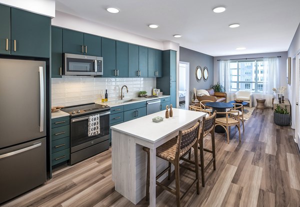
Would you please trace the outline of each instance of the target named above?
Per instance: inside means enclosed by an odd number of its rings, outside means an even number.
[[[225,12],[214,13],[218,5]],[[108,13],[108,6],[120,12]],[[287,51],[299,8],[300,0],[56,0],[56,10],[212,56]]]

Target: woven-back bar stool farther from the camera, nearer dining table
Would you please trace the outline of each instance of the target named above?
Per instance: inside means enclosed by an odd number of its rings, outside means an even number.
[[[216,169],[215,167],[215,138],[214,138],[214,125],[215,125],[215,116],[216,116],[216,111],[214,111],[210,116],[204,118],[201,123],[201,128],[200,128],[200,137],[199,137],[199,146],[198,149],[200,151],[200,163],[199,166],[201,167],[201,181],[202,181],[202,186],[205,186],[205,179],[204,179],[204,172],[208,169],[210,164],[213,164],[213,170]],[[210,133],[211,135],[211,149],[204,148],[204,137]],[[212,158],[209,160],[209,162],[204,166],[204,151],[212,153]],[[188,155],[188,159],[182,158],[182,160],[193,163],[193,161],[190,160],[190,151]]]

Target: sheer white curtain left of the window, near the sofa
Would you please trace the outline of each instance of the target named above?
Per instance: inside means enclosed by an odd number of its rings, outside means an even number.
[[[219,83],[224,86],[226,93],[227,93],[227,101],[233,100],[233,94],[234,92],[231,92],[230,88],[230,71],[229,71],[229,65],[230,60],[219,60],[219,77],[218,81]]]

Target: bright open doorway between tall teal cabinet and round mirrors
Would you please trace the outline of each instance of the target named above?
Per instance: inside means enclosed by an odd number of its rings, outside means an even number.
[[[189,62],[179,61],[179,107],[188,110]]]

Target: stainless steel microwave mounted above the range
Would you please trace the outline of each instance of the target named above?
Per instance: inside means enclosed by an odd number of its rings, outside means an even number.
[[[103,57],[83,54],[63,54],[64,75],[102,75]]]

